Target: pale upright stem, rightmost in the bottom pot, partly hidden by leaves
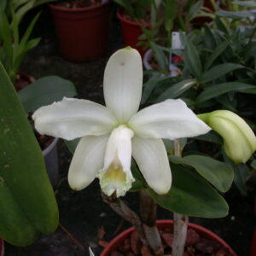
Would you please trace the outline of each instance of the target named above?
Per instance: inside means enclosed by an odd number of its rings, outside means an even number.
[[[174,141],[174,154],[181,157],[182,149],[179,140]],[[187,237],[189,217],[173,212],[172,256],[183,256]]]

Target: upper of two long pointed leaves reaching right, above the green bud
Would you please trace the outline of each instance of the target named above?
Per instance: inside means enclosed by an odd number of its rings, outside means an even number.
[[[225,74],[230,73],[231,71],[236,70],[238,68],[246,67],[236,63],[223,63],[215,67],[212,67],[206,73],[203,74],[202,83],[207,83],[209,81],[218,79],[224,76]]]

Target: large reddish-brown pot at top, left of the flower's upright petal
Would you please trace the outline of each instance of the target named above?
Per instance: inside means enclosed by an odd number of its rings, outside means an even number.
[[[109,2],[86,8],[49,4],[61,54],[68,61],[96,60],[108,46]]]

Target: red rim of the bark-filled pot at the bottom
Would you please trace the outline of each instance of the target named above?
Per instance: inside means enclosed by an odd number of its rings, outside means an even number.
[[[164,229],[168,227],[172,228],[172,225],[173,225],[172,220],[163,219],[163,220],[157,221],[157,226],[159,229]],[[205,238],[211,239],[213,241],[218,241],[218,243],[220,243],[223,247],[227,248],[233,256],[237,256],[236,253],[231,249],[231,247],[219,236],[214,234],[212,231],[192,223],[189,223],[189,228],[194,229],[199,235],[204,236]],[[113,250],[119,247],[119,244],[122,241],[125,241],[127,237],[131,236],[131,233],[133,231],[134,231],[134,228],[130,228],[128,230],[125,230],[121,234],[119,234],[119,236],[116,236],[115,238],[113,238],[113,240],[109,242],[108,246],[105,247],[105,249],[102,251],[100,256],[109,256],[110,253],[113,252]]]

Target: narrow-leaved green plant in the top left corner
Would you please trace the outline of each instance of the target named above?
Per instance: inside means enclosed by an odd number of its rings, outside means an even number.
[[[23,20],[26,13],[43,3],[49,3],[53,0],[3,0],[0,5],[0,61],[2,61],[9,78],[12,82],[17,79],[23,80],[23,84],[18,83],[18,90],[22,88],[25,82],[31,83],[28,75],[20,73],[20,64],[26,52],[36,47],[40,38],[30,39],[33,27],[35,26],[38,15],[32,19],[29,26],[22,36],[20,36],[20,22]]]

